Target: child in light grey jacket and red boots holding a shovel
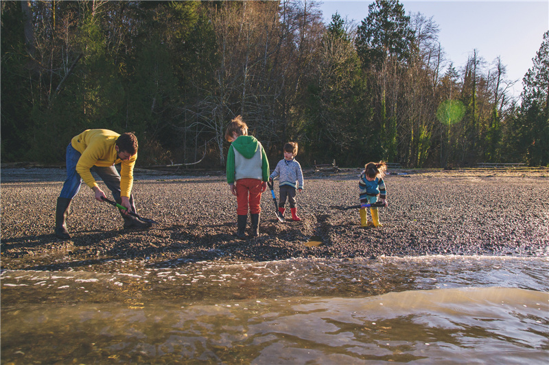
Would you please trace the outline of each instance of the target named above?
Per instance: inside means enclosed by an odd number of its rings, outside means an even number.
[[[274,168],[269,179],[272,181],[277,176],[280,176],[279,189],[280,189],[280,201],[279,212],[281,216],[284,216],[284,205],[286,198],[290,203],[290,212],[292,212],[292,221],[301,221],[301,218],[297,216],[296,208],[296,190],[298,192],[303,191],[303,171],[301,171],[301,165],[295,160],[297,155],[297,143],[288,142],[284,145],[284,158],[280,160],[277,167]]]

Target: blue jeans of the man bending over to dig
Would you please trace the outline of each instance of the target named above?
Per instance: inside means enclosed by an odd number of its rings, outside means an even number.
[[[76,164],[80,160],[82,154],[74,149],[72,144],[69,143],[67,146],[67,179],[61,193],[59,194],[60,198],[73,199],[78,191],[80,191],[80,186],[82,185],[82,178],[76,172]],[[120,175],[116,170],[115,166],[101,167],[93,166],[90,171],[96,173],[101,177],[107,188],[113,192],[113,197],[115,201],[120,202]],[[135,205],[133,201],[133,194],[130,194],[130,205],[132,210],[135,212]]]

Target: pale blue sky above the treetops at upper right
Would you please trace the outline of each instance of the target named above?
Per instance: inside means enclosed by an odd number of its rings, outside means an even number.
[[[360,25],[373,1],[324,0],[320,5],[325,23],[338,12]],[[400,0],[406,15],[421,12],[439,25],[439,42],[456,70],[463,68],[474,49],[491,68],[500,56],[507,79],[518,80],[511,92],[522,92],[522,77],[532,68],[544,33],[549,30],[549,0],[536,1],[407,1]]]

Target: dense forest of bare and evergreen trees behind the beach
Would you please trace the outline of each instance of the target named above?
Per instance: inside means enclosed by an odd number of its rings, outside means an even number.
[[[242,114],[270,164],[549,166],[549,31],[522,80],[377,0],[360,24],[315,1],[1,1],[1,160],[58,163],[84,129],[134,131],[137,166],[224,166]]]

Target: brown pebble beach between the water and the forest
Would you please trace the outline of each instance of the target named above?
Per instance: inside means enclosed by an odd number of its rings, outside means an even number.
[[[361,228],[357,209],[334,208],[358,204],[360,169],[304,173],[305,190],[297,196],[303,221],[279,223],[267,190],[258,238],[233,236],[236,199],[223,171],[137,169],[138,213],[159,225],[122,229],[118,211],[95,201],[82,185],[67,219],[72,237],[59,240],[54,211],[65,169],[2,166],[1,268],[62,270],[121,258],[169,266],[290,257],[549,256],[547,168],[390,171],[385,178],[389,206],[379,210],[384,227],[378,228]],[[278,197],[276,182],[275,193]],[[307,247],[312,236],[320,236],[318,247]]]

